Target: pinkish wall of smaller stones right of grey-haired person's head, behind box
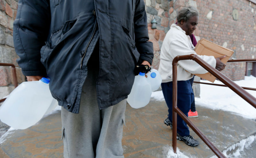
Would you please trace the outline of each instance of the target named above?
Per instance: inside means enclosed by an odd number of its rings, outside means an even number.
[[[248,0],[196,0],[200,12],[196,35],[234,51],[233,58],[256,58],[256,5]],[[232,17],[238,10],[238,19]],[[212,13],[211,13],[212,11]],[[212,18],[207,14],[211,14]],[[244,79],[245,62],[228,63],[222,71],[232,80]]]

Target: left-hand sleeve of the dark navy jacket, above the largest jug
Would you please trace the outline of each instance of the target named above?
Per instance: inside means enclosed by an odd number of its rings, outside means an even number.
[[[51,21],[49,0],[20,0],[13,23],[17,59],[25,76],[46,75],[40,50],[47,40]]]

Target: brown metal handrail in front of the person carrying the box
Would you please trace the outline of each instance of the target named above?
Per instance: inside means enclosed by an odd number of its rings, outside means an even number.
[[[242,87],[238,86],[228,77],[220,73],[218,70],[213,68],[211,65],[207,64],[203,59],[195,54],[176,56],[172,61],[172,147],[174,153],[177,149],[177,113],[180,117],[189,125],[189,127],[204,141],[204,143],[216,154],[219,158],[226,158],[226,156],[220,152],[220,150],[215,147],[212,142],[206,138],[206,136],[188,119],[188,117],[183,114],[183,112],[177,107],[177,63],[179,60],[194,60],[199,65],[201,65],[205,70],[210,72],[213,76],[219,79],[227,87],[232,89],[236,94],[241,96],[246,102],[250,103],[254,108],[256,108],[256,98],[245,91]]]

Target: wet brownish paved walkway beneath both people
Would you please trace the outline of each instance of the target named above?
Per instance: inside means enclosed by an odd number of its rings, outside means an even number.
[[[225,147],[244,139],[256,131],[255,120],[245,119],[220,110],[196,107],[199,117],[193,123],[216,147]],[[125,158],[165,158],[172,146],[172,132],[163,122],[167,117],[165,102],[152,100],[146,107],[132,109],[128,104],[125,113],[123,148]],[[198,147],[189,147],[177,141],[177,147],[188,157],[208,158],[213,152],[199,140]],[[60,111],[43,118],[25,130],[8,132],[0,139],[0,158],[62,158]],[[254,154],[255,155],[255,154]]]

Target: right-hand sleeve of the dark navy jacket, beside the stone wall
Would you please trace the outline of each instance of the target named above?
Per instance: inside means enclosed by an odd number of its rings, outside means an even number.
[[[148,23],[147,13],[145,11],[145,4],[143,0],[136,0],[134,13],[134,33],[135,46],[140,53],[139,63],[143,60],[152,64],[154,52],[153,43],[148,41]]]

